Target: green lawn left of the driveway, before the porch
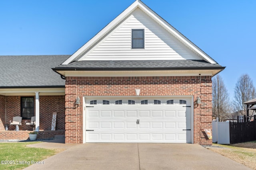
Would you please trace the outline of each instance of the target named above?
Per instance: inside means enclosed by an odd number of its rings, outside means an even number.
[[[21,170],[56,153],[54,149],[31,148],[40,142],[0,143],[0,170]]]

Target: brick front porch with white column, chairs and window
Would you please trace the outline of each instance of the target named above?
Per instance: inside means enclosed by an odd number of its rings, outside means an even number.
[[[21,116],[22,98],[34,98],[34,114],[36,116],[36,131],[38,131],[37,139],[54,139],[55,135],[65,135],[65,96],[32,96],[21,94],[15,96],[7,94],[6,96],[0,95],[0,140],[27,140],[29,133],[32,132],[32,127],[26,125],[26,121],[30,119],[22,118],[19,131],[15,131],[15,125],[10,125],[10,121],[15,116]],[[37,104],[38,102],[38,104]],[[38,110],[38,111],[37,111]],[[51,130],[52,127],[52,114],[57,113],[56,128]],[[6,130],[6,125],[8,130]]]

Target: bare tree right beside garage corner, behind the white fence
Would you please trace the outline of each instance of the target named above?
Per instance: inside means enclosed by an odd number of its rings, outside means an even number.
[[[212,78],[212,116],[225,121],[230,114],[230,100],[228,90],[220,75]]]

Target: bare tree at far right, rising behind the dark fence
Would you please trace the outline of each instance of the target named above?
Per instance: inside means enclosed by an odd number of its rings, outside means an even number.
[[[246,115],[246,105],[244,102],[256,98],[256,90],[252,79],[248,74],[243,74],[236,82],[234,90],[234,108],[240,115]]]

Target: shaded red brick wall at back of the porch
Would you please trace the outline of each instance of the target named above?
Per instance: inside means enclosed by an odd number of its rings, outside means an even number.
[[[10,126],[10,120],[14,116],[20,116],[20,98],[21,96],[5,96],[4,102],[6,113],[0,116],[2,124],[0,130],[4,130],[5,124],[9,125],[9,130],[14,130],[15,126]],[[57,112],[56,131],[65,130],[65,96],[39,96],[40,109],[40,130],[50,130],[52,123],[52,113]],[[0,98],[1,103],[1,98]],[[2,108],[2,106],[0,107]],[[36,114],[36,101],[34,96],[34,115]],[[0,112],[1,114],[1,112]],[[25,121],[30,119],[22,119],[20,130],[32,130],[32,127],[26,125]]]

